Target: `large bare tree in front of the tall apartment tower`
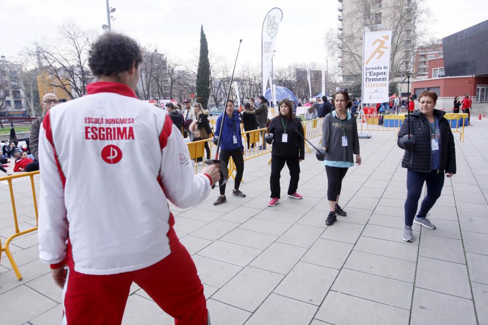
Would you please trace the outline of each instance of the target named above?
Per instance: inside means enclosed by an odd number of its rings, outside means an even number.
[[[392,30],[390,78],[405,76],[410,70],[414,50],[425,42],[429,10],[424,0],[353,0],[354,10],[345,16],[355,21],[351,33],[329,30],[325,44],[335,59],[342,57],[343,76],[360,83],[363,65],[363,28],[370,31]]]

